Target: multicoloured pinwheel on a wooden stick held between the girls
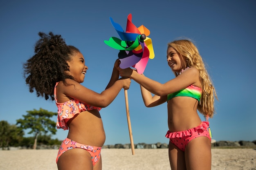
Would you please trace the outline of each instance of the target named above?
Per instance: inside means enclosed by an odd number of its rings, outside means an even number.
[[[111,37],[108,41],[105,40],[104,42],[108,46],[119,50],[118,58],[121,62],[119,65],[120,68],[134,67],[137,69],[139,74],[144,73],[148,59],[153,59],[155,57],[152,40],[148,38],[150,31],[144,25],[141,25],[137,28],[132,23],[132,14],[129,14],[127,17],[126,32],[124,32],[122,27],[115,23],[111,17],[110,22],[121,39]],[[127,90],[124,90],[124,94],[132,155],[135,155],[132,139],[132,128],[130,125]]]

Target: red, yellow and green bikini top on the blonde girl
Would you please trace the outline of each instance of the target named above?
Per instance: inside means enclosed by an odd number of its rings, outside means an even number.
[[[185,89],[182,89],[182,90],[177,91],[175,93],[168,94],[167,95],[167,101],[172,99],[173,97],[187,96],[187,97],[193,97],[193,98],[197,99],[200,102],[201,95],[202,95],[201,88],[191,84]]]

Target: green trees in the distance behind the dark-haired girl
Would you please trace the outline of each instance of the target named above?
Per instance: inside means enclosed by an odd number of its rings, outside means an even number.
[[[31,148],[36,143],[44,145],[60,145],[62,141],[52,139],[56,134],[56,122],[50,118],[58,113],[40,110],[27,111],[27,115],[22,115],[23,119],[18,119],[16,125],[10,125],[7,121],[0,121],[0,148],[9,146],[26,146]],[[25,129],[30,129],[29,134],[34,137],[23,137]],[[47,135],[47,132],[50,135]],[[43,133],[43,135],[42,135]]]

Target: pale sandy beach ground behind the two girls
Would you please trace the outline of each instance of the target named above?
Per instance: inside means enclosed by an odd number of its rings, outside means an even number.
[[[0,170],[57,170],[58,150],[0,150]],[[168,149],[102,149],[102,170],[171,170]],[[212,149],[212,170],[256,170],[254,149]]]

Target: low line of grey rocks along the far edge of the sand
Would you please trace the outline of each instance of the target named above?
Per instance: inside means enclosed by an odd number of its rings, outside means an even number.
[[[256,140],[254,141],[215,141],[212,139],[211,141],[212,148],[255,148],[256,149]],[[36,149],[58,149],[59,145],[38,145]],[[115,144],[115,145],[104,145],[102,148],[108,149],[130,149],[130,144]],[[139,143],[134,144],[135,149],[164,149],[168,148],[168,144],[166,143],[156,143],[156,144],[146,144]],[[33,149],[32,146],[18,146],[18,147],[6,147],[2,148],[2,150],[20,150],[20,149]]]

